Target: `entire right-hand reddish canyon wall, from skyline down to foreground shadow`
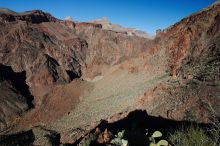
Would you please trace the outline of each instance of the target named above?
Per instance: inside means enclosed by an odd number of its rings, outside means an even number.
[[[219,8],[218,1],[157,35],[155,40],[165,50],[167,67],[177,83],[172,83],[172,87],[163,85],[150,93],[155,99],[167,100],[158,103],[154,114],[177,120],[189,120],[187,115],[191,115],[202,122],[208,121],[210,108],[219,111]],[[162,96],[157,96],[158,92]],[[160,107],[166,107],[166,112],[162,114]]]

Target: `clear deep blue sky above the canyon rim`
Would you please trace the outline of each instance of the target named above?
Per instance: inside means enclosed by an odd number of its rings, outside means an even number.
[[[197,12],[216,0],[1,0],[1,8],[22,12],[40,9],[59,19],[77,21],[107,17],[112,23],[150,34]]]

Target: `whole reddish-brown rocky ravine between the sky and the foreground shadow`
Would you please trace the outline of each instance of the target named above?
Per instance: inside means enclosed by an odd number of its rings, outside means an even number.
[[[219,1],[153,40],[102,27],[0,10],[3,141],[26,131],[35,145],[48,133],[74,143],[136,109],[196,122],[209,122],[209,106],[220,114]]]

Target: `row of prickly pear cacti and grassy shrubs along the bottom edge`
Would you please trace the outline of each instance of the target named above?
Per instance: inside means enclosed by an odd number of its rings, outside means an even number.
[[[168,130],[169,131],[169,130]],[[145,146],[218,146],[219,129],[215,126],[203,129],[199,126],[182,127],[167,136],[167,140],[161,139],[163,134],[155,131],[152,134],[145,135]],[[118,132],[108,143],[107,146],[139,146],[135,141],[130,139],[133,133],[131,131],[122,130]],[[128,136],[129,135],[129,136]],[[128,137],[127,137],[128,136]],[[134,135],[134,137],[136,137]],[[81,142],[82,146],[91,146],[96,141],[95,136],[89,136]],[[166,137],[164,137],[166,138]],[[143,142],[139,141],[139,144]]]

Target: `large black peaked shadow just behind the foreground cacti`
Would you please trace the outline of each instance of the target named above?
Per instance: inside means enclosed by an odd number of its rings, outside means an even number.
[[[106,121],[103,121],[97,126],[97,128],[100,128],[101,131],[108,129],[113,134],[117,134],[118,132],[125,130],[124,139],[129,141],[129,145],[146,146],[149,142],[146,136],[146,129],[148,129],[149,135],[151,135],[154,131],[159,130],[166,138],[170,133],[173,133],[174,130],[189,126],[206,128],[210,127],[211,124],[174,121],[162,117],[149,116],[146,111],[136,110],[117,122],[107,123]],[[95,129],[92,132],[94,131]],[[97,146],[98,144],[94,143],[94,145]]]

